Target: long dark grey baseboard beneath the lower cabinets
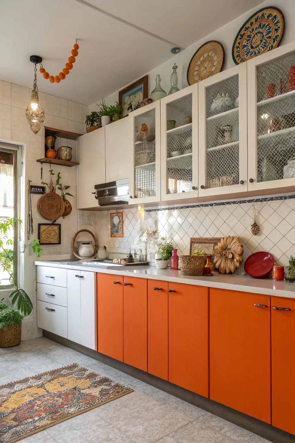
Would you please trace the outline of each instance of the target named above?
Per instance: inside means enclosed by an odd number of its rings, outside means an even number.
[[[207,412],[211,412],[218,417],[237,424],[238,426],[254,432],[254,434],[260,435],[261,437],[264,437],[264,439],[270,440],[273,443],[295,442],[295,435],[282,431],[281,429],[264,423],[261,420],[257,420],[256,418],[247,416],[242,412],[236,411],[235,409],[228,408],[227,406],[217,403],[216,401],[195,394],[194,392],[188,391],[180,386],[173,385],[169,381],[162,380],[161,378],[155,377],[154,375],[144,372],[141,369],[126,365],[126,363],[115,360],[111,357],[107,357],[107,355],[100,354],[99,352],[86,348],[85,346],[81,346],[78,343],[71,342],[67,338],[62,338],[59,335],[52,334],[46,330],[43,330],[43,337],[50,338],[50,340],[53,340],[54,342],[61,343],[62,345],[68,346],[81,354],[88,355],[88,357],[101,361],[112,368],[118,369],[119,371],[130,375],[131,377],[138,378],[138,380],[144,381],[155,388],[168,392],[181,400],[185,400],[188,403],[194,404]]]

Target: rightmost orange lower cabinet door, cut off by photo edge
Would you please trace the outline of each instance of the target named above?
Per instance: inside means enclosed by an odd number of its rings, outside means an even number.
[[[295,434],[295,299],[272,297],[272,425]]]

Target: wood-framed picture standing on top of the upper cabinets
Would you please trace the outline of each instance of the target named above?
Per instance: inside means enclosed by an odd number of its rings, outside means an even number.
[[[123,117],[134,111],[135,107],[148,96],[148,76],[140,78],[119,91],[119,105],[122,106]]]

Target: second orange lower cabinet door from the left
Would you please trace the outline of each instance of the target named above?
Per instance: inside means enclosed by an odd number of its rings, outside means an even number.
[[[124,363],[147,371],[147,280],[124,276]]]

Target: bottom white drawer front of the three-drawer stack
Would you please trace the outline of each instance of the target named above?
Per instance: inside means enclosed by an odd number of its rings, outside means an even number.
[[[53,334],[68,338],[67,308],[37,300],[37,325]]]

